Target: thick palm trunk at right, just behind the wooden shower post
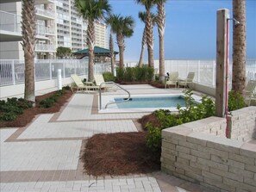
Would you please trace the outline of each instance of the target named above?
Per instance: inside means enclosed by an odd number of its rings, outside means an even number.
[[[244,94],[246,87],[246,0],[233,0],[233,17],[240,22],[233,29],[232,90]]]

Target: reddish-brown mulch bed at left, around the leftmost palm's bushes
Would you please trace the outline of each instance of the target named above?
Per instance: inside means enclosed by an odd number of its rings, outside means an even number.
[[[23,111],[22,115],[18,115],[15,121],[3,121],[0,123],[0,127],[25,127],[28,125],[29,122],[31,122],[35,115],[39,114],[52,114],[59,111],[59,109],[69,100],[69,98],[72,96],[71,90],[66,90],[66,94],[63,96],[60,96],[58,101],[54,103],[54,105],[51,108],[40,108],[39,102],[41,100],[53,96],[55,91],[47,93],[42,96],[36,96],[35,97],[35,107],[34,108],[28,108]]]

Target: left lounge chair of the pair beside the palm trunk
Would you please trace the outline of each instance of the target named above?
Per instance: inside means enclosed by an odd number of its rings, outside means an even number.
[[[77,91],[78,90],[83,90],[84,92],[89,93],[91,91],[96,91],[99,88],[98,86],[93,85],[91,82],[87,83],[87,84],[84,84],[82,82],[81,78],[78,77],[78,75],[76,75],[76,74],[71,75],[71,77],[74,81],[74,84],[76,84]],[[73,86],[71,87],[71,89],[72,89],[72,92],[74,92]]]

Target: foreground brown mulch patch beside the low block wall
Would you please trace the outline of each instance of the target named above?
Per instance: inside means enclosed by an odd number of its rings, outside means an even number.
[[[96,134],[86,143],[82,160],[92,176],[150,173],[160,169],[160,153],[146,146],[146,132]]]

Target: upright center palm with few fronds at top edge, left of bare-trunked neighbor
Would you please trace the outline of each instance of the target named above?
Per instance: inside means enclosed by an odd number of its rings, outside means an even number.
[[[146,9],[146,33],[147,33],[147,52],[148,52],[148,66],[153,67],[153,20],[151,17],[151,9],[153,8],[153,0],[136,0],[145,6]]]

